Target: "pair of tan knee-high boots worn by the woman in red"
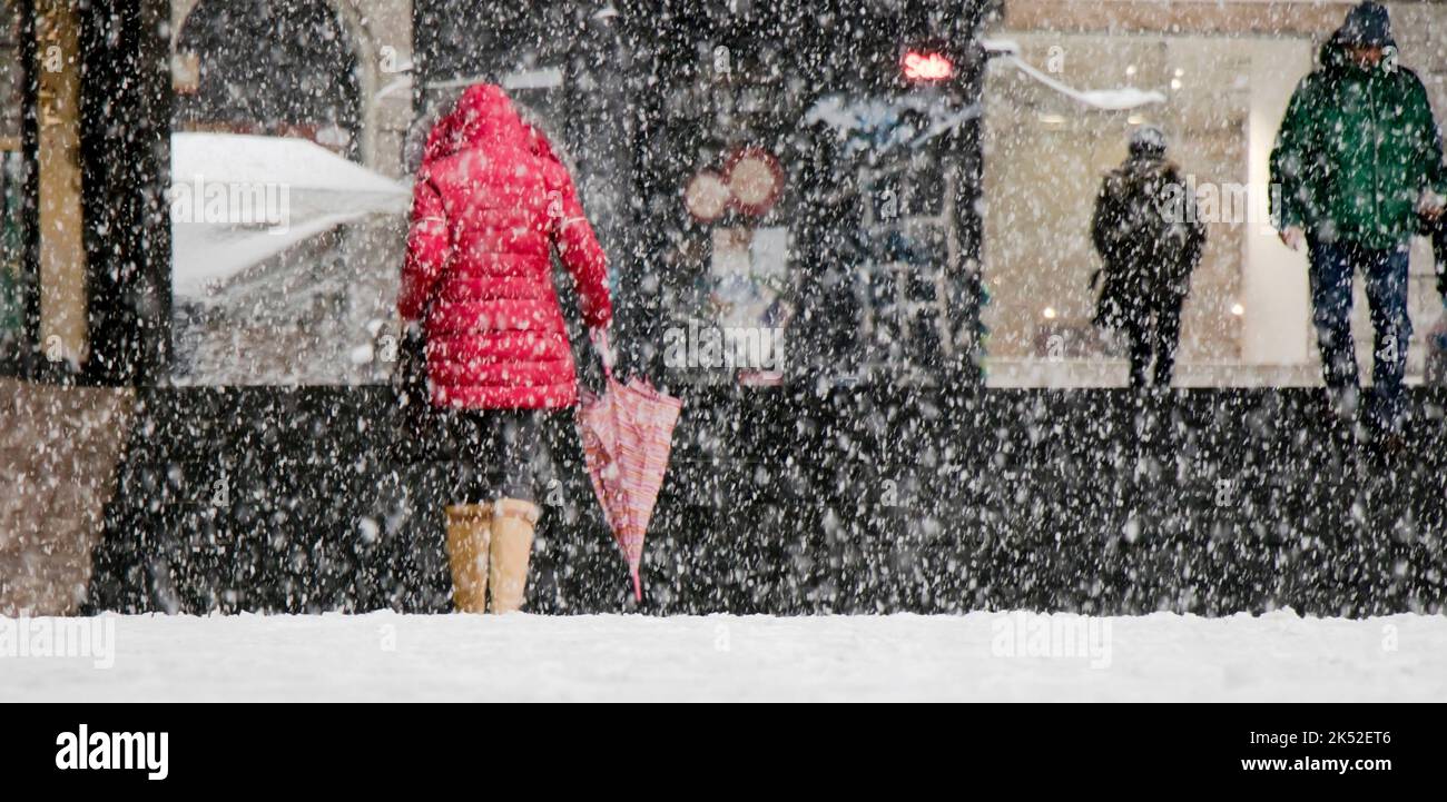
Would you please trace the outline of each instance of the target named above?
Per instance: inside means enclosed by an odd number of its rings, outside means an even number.
[[[447,562],[453,574],[453,607],[459,613],[522,608],[532,529],[540,513],[537,504],[517,499],[447,507]]]

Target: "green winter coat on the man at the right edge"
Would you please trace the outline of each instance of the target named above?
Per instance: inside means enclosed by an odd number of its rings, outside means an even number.
[[[1363,69],[1336,39],[1297,87],[1270,158],[1278,228],[1386,250],[1420,228],[1424,189],[1447,195],[1427,88],[1393,59]]]

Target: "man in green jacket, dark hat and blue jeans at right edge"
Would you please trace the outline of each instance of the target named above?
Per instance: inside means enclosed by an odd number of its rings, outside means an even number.
[[[1440,220],[1447,197],[1441,133],[1427,88],[1396,62],[1386,7],[1362,3],[1327,42],[1320,68],[1286,110],[1270,159],[1281,238],[1311,254],[1311,299],[1323,374],[1337,408],[1354,415],[1351,280],[1366,276],[1379,405],[1370,422],[1401,434],[1402,377],[1412,324],[1406,309],[1411,238],[1421,215]]]

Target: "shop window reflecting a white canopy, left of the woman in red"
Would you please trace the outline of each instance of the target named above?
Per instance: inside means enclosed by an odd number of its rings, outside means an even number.
[[[407,188],[372,169],[366,29],[333,0],[177,4],[172,381],[385,379]]]

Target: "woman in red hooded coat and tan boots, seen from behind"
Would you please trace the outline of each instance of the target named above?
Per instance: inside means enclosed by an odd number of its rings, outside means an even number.
[[[427,137],[398,299],[402,318],[421,322],[433,405],[459,418],[496,477],[491,503],[476,493],[446,510],[460,611],[522,607],[541,512],[531,467],[538,415],[577,402],[554,249],[577,282],[593,342],[603,342],[608,267],[573,179],[506,92],[469,88]]]

